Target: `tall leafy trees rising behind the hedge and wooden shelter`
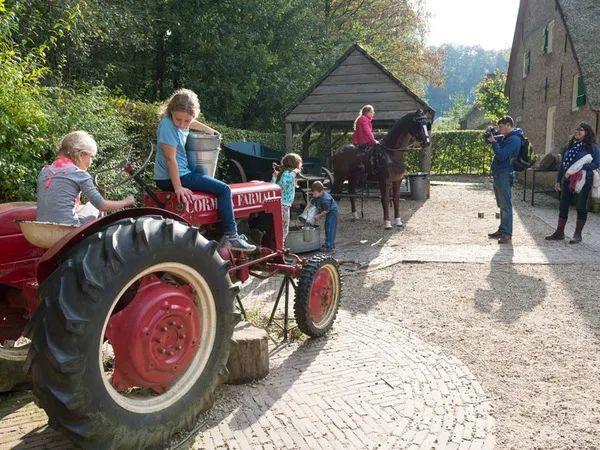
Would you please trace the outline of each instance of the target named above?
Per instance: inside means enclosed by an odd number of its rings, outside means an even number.
[[[422,0],[8,0],[15,40],[44,49],[45,84],[103,84],[159,101],[189,87],[206,116],[275,129],[283,111],[361,42],[417,92],[439,81]]]

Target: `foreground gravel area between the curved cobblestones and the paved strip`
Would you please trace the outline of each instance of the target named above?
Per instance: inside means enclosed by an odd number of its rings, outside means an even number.
[[[598,268],[398,264],[346,277],[345,308],[460,358],[490,397],[498,448],[600,443]]]

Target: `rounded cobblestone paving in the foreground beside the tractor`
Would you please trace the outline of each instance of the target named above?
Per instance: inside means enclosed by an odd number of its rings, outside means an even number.
[[[469,369],[397,324],[341,313],[333,332],[225,386],[194,448],[493,448]]]

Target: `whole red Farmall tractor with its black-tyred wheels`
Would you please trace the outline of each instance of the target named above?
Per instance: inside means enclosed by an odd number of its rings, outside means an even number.
[[[144,207],[75,228],[47,250],[18,223],[35,219],[34,204],[0,205],[0,358],[25,363],[51,426],[76,444],[164,446],[209,408],[227,377],[237,284],[250,276],[297,280],[299,329],[321,336],[332,326],[336,260],[286,254],[277,185],[231,189],[254,254],[219,244],[216,199],[205,193],[182,205],[145,187]]]

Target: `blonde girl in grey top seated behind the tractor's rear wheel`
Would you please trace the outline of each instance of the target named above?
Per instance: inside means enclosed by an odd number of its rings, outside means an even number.
[[[58,144],[56,153],[54,162],[45,166],[38,176],[36,220],[79,226],[95,219],[97,215],[81,213],[81,193],[102,212],[135,203],[133,195],[123,200],[106,200],[94,186],[87,169],[98,148],[90,134],[85,131],[67,134]]]

